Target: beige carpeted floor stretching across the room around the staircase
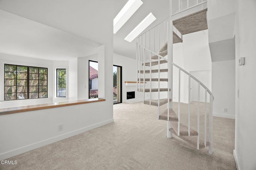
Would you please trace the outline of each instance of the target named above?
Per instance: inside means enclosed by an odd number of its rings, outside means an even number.
[[[166,109],[165,106],[161,109]],[[182,104],[182,109],[186,107],[186,104]],[[174,103],[174,111],[176,108],[177,104]],[[203,115],[204,108],[200,109],[200,115]],[[142,102],[116,104],[113,123],[9,158],[17,160],[18,164],[0,164],[0,169],[236,169],[233,119],[214,117],[213,154],[209,155],[208,148],[196,150],[176,136],[166,138],[166,121],[158,120],[156,111],[157,107]],[[192,117],[196,117],[195,113],[196,110]]]

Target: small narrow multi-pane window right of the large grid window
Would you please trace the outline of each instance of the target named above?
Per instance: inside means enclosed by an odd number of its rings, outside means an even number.
[[[66,69],[57,69],[57,97],[66,97]]]

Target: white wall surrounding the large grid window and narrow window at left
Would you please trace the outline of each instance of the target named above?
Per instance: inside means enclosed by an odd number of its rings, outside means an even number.
[[[50,61],[50,60],[34,59],[30,57],[21,57],[21,56],[0,53],[0,64],[1,64],[1,68],[4,68],[4,64],[19,64],[19,65],[25,65],[25,66],[41,66],[41,67],[48,68],[48,98],[4,101],[4,95],[1,95],[0,108],[77,100],[76,88],[72,88],[73,86],[77,86],[76,85],[77,69],[76,69],[76,63],[74,63],[73,60],[72,61]],[[66,98],[56,97],[56,69],[57,68],[66,68],[66,87],[67,87]],[[1,78],[0,92],[1,94],[4,94],[4,74],[1,74],[0,78]]]

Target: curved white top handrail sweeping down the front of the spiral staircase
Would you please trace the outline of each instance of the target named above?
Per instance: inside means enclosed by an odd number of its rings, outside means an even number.
[[[194,77],[192,74],[190,74],[189,72],[187,72],[186,70],[184,70],[183,68],[181,68],[180,66],[178,66],[177,64],[175,64],[175,63],[169,61],[168,59],[166,59],[166,58],[164,58],[164,57],[162,57],[162,56],[159,55],[158,53],[155,53],[154,51],[148,49],[147,47],[145,47],[144,45],[142,45],[142,44],[141,44],[140,42],[138,42],[137,40],[136,40],[136,42],[137,42],[141,47],[143,47],[144,49],[150,51],[150,52],[153,53],[154,55],[157,55],[157,56],[160,57],[161,59],[164,59],[164,60],[167,61],[168,63],[170,63],[170,64],[176,66],[177,68],[179,68],[180,70],[182,70],[184,73],[188,74],[188,76],[192,77],[194,80],[196,80],[196,82],[200,83],[200,85],[201,85],[204,89],[207,90],[207,92],[212,96],[212,98],[213,98],[213,100],[214,100],[214,96],[213,96],[212,92],[211,92],[200,80],[198,80],[198,79],[197,79],[196,77]]]

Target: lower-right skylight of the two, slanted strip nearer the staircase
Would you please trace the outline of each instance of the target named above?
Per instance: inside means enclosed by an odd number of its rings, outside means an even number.
[[[137,25],[132,32],[130,32],[124,39],[128,42],[132,42],[144,29],[146,29],[152,22],[156,20],[156,17],[150,12],[139,25]]]

